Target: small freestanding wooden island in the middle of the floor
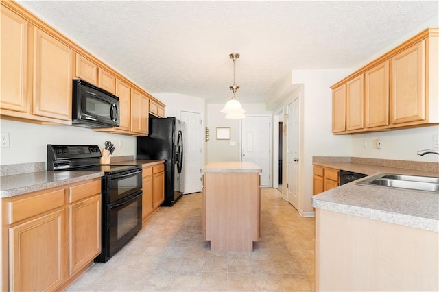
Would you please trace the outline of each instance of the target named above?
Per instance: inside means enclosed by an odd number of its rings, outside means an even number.
[[[261,234],[261,167],[213,162],[203,175],[203,234],[212,251],[252,252]]]

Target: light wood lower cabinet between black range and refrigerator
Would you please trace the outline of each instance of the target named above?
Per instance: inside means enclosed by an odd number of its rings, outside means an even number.
[[[142,221],[150,217],[165,200],[165,165],[143,167]]]

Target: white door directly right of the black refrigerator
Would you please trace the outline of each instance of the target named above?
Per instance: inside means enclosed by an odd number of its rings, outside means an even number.
[[[181,121],[185,122],[185,154],[183,165],[185,169],[185,194],[202,191],[202,119],[197,112],[180,113]]]

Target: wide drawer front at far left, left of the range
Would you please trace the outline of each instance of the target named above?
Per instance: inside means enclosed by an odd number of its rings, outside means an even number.
[[[64,188],[8,203],[8,224],[64,206]]]

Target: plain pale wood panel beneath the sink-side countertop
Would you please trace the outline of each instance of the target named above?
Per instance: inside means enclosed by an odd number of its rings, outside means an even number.
[[[316,291],[438,291],[438,247],[438,232],[316,208]]]

